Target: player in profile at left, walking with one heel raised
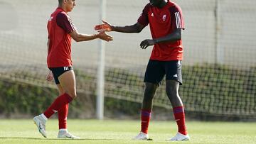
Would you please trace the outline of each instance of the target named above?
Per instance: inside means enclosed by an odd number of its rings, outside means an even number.
[[[59,132],[58,138],[79,138],[68,132],[67,116],[68,104],[77,96],[75,88],[75,74],[71,60],[71,39],[75,41],[87,41],[100,38],[113,40],[112,36],[105,32],[94,35],[78,33],[75,25],[68,16],[68,12],[75,7],[75,0],[58,0],[58,8],[51,14],[48,21],[48,57],[47,64],[50,72],[46,79],[55,79],[60,96],[53,101],[44,113],[33,118],[38,131],[46,135],[46,121],[53,113],[58,112]]]

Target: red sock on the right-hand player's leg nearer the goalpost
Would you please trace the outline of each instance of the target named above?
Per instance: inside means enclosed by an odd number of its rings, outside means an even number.
[[[151,117],[151,110],[142,109],[142,112],[141,112],[142,129],[141,129],[141,131],[143,133],[146,133],[146,134],[148,133],[150,117]]]

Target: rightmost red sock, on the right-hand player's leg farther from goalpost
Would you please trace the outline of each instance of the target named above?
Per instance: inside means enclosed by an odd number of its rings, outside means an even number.
[[[178,125],[178,132],[186,135],[188,132],[186,131],[185,126],[185,112],[183,106],[174,107],[174,118]]]

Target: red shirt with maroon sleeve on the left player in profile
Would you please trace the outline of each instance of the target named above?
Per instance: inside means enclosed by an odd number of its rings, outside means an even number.
[[[49,50],[47,57],[48,67],[69,67],[71,60],[71,36],[76,31],[75,25],[63,9],[57,8],[47,24]]]

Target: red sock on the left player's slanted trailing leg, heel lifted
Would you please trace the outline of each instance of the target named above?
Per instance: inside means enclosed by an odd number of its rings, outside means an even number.
[[[59,111],[60,108],[63,108],[66,104],[70,103],[73,99],[68,94],[63,94],[57,97],[53,104],[51,104],[48,109],[43,113],[46,118],[50,118],[56,111]]]

